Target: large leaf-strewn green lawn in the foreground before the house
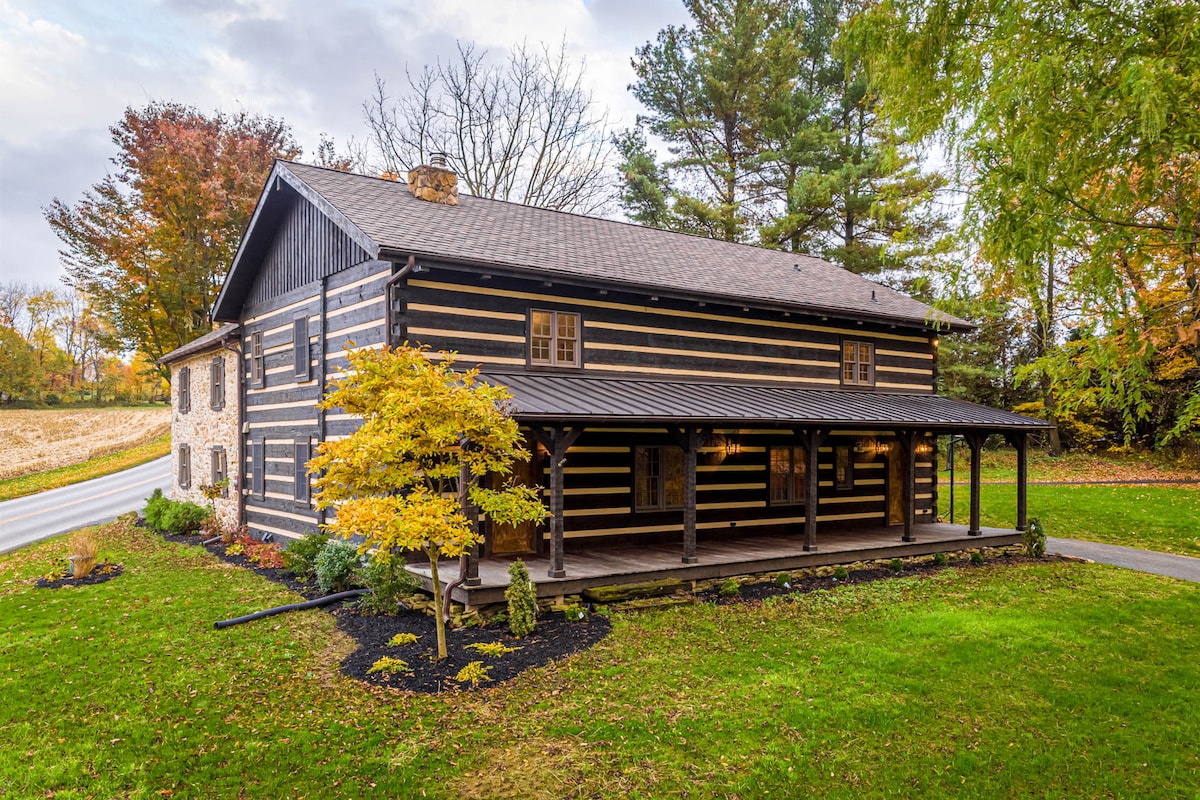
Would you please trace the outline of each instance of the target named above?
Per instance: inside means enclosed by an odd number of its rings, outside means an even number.
[[[287,590],[112,525],[126,573],[0,557],[0,798],[1190,796],[1200,585],[1076,563],[794,602],[618,614],[590,651],[470,694],[337,672]]]

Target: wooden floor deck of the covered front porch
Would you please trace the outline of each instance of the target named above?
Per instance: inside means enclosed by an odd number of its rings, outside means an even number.
[[[823,533],[817,540],[818,549],[815,552],[804,551],[803,536],[701,540],[696,546],[698,564],[682,563],[682,545],[594,547],[578,553],[566,552],[564,578],[547,577],[548,557],[523,558],[529,567],[529,576],[536,584],[538,596],[559,597],[578,594],[589,587],[611,587],[662,578],[704,581],[870,559],[929,555],[974,547],[1001,547],[1021,541],[1021,534],[1016,530],[983,528],[980,536],[968,536],[966,525],[946,523],[917,524],[913,527],[913,533],[916,542],[901,541],[900,528]],[[454,590],[455,602],[467,606],[504,602],[504,589],[509,585],[509,564],[515,560],[516,557],[480,559],[480,585],[457,587]],[[433,588],[427,564],[413,564],[408,570],[418,576],[426,590]],[[443,584],[455,581],[458,577],[458,561],[439,561],[438,577]]]

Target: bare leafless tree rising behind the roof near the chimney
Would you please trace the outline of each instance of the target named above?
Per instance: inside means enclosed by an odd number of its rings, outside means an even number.
[[[578,213],[612,200],[606,114],[583,85],[563,43],[557,52],[527,44],[505,64],[458,44],[457,59],[406,70],[408,89],[376,92],[362,104],[376,172],[407,173],[445,152],[470,194]]]

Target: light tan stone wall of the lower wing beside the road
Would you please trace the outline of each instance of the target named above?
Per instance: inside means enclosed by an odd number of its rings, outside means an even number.
[[[212,408],[211,365],[214,359],[224,362],[224,405]],[[241,458],[238,451],[238,404],[241,398],[238,392],[239,356],[224,348],[215,348],[190,356],[170,366],[170,467],[174,500],[191,500],[208,505],[200,487],[212,483],[212,452],[215,447],[224,450],[226,475],[229,485],[224,497],[214,503],[217,517],[226,525],[238,524],[238,498],[241,487]],[[191,371],[191,404],[187,411],[181,410],[180,372],[187,367]],[[191,483],[182,487],[180,479],[180,445],[191,447]]]

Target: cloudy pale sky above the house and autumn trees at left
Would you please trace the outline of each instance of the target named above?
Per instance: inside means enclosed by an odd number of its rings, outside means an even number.
[[[0,281],[59,282],[42,209],[112,169],[108,128],[130,106],[280,118],[308,157],[323,132],[365,138],[376,73],[400,88],[456,41],[565,42],[625,127],[634,49],[686,19],[682,0],[0,0]]]

